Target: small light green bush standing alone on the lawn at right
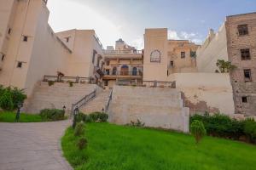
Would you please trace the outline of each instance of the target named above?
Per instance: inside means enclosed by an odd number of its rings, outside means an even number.
[[[190,131],[195,137],[196,144],[198,144],[200,140],[207,134],[204,124],[201,121],[197,120],[191,123]]]

